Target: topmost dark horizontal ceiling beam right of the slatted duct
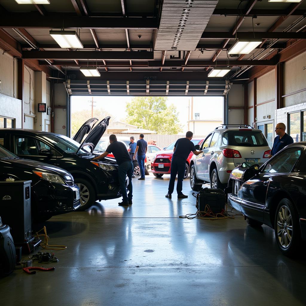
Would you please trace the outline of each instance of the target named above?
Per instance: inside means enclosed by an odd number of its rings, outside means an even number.
[[[271,3],[271,5],[273,5]],[[271,6],[272,7],[272,6]],[[256,15],[256,16],[286,16],[287,9],[251,9],[248,15]],[[242,10],[244,13],[244,10]],[[295,10],[292,15],[295,16],[303,16],[305,13],[304,9],[297,9]],[[237,9],[215,9],[213,15],[224,15],[224,16],[240,16],[237,14]]]

